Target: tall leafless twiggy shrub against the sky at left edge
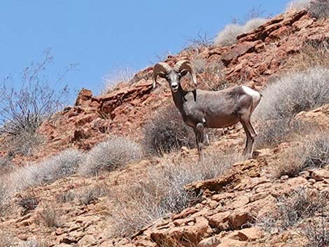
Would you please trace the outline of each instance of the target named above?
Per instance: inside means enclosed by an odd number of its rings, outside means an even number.
[[[43,61],[32,62],[23,71],[20,82],[14,81],[12,76],[3,81],[0,87],[1,133],[33,133],[46,118],[62,108],[68,88],[64,86],[58,91],[54,89],[54,85],[58,85],[74,66],[66,67],[58,78],[50,82],[43,71],[51,62],[50,50],[45,50]]]

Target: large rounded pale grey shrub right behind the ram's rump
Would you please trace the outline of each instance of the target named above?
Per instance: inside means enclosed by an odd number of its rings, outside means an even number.
[[[300,111],[329,103],[329,69],[316,67],[291,73],[269,84],[262,92],[254,117],[258,120],[258,146],[283,141],[290,120]]]

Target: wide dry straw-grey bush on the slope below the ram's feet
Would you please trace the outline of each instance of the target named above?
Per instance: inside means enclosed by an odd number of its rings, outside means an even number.
[[[130,236],[168,213],[176,213],[200,199],[200,195],[184,189],[188,183],[214,178],[241,157],[228,153],[212,153],[201,162],[179,159],[164,161],[149,169],[148,176],[133,183],[123,192],[113,192],[111,223],[113,234]]]

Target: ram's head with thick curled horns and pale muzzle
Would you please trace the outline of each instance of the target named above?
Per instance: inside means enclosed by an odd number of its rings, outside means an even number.
[[[188,72],[190,72],[192,76],[193,83],[197,85],[197,77],[192,69],[190,61],[181,60],[175,64],[174,68],[165,62],[158,62],[153,68],[153,88],[157,82],[157,77],[160,76],[167,80],[172,92],[177,92],[177,90],[179,90],[181,78]]]

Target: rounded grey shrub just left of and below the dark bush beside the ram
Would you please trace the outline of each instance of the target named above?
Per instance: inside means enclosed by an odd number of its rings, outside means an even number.
[[[80,166],[80,174],[97,176],[99,171],[113,171],[124,167],[128,162],[141,160],[142,148],[138,143],[120,136],[97,144],[87,153]]]

